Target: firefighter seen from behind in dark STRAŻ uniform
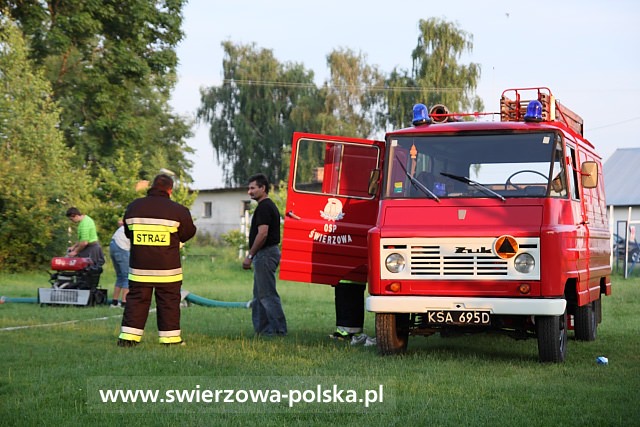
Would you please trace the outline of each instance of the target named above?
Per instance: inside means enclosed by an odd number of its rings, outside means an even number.
[[[158,334],[165,345],[184,344],[180,335],[180,246],[196,233],[189,209],[170,199],[173,179],[160,174],[147,196],[134,200],[124,215],[131,240],[129,294],[118,338],[121,347],[142,339],[155,289]]]

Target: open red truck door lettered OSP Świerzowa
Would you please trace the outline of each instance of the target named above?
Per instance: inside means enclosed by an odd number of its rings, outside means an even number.
[[[378,215],[383,150],[380,141],[293,135],[281,279],[367,281],[367,231]]]

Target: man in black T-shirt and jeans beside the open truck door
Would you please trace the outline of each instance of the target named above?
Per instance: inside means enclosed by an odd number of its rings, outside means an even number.
[[[276,269],[280,264],[280,212],[269,198],[269,181],[263,174],[249,178],[249,196],[258,202],[251,218],[249,253],[242,262],[248,270],[253,263],[251,317],[257,335],[284,336],[287,320],[276,290]]]

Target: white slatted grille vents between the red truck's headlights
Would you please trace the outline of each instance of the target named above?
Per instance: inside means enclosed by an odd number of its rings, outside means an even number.
[[[411,246],[412,276],[506,276],[508,262],[493,254],[443,255],[440,246]]]

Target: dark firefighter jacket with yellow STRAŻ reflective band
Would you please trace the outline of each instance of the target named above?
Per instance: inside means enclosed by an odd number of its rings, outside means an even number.
[[[182,281],[180,244],[196,233],[189,210],[152,188],[147,197],[127,206],[124,222],[131,240],[129,280],[154,285]]]

